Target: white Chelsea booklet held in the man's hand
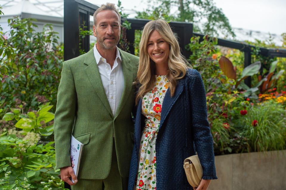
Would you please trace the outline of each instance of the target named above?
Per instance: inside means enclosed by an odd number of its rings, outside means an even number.
[[[71,167],[77,176],[80,167],[80,159],[83,153],[83,144],[71,135]],[[74,180],[71,179],[74,183]]]

